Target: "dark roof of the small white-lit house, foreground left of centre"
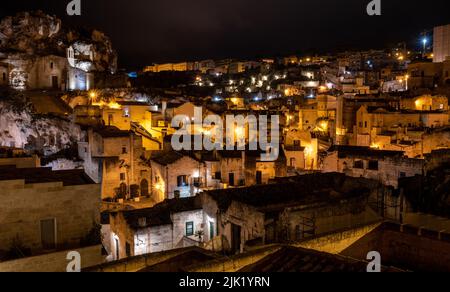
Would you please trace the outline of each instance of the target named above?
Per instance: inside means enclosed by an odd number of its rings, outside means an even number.
[[[132,229],[141,229],[154,226],[172,224],[170,214],[202,209],[199,197],[166,200],[152,208],[123,211],[123,216]],[[146,219],[145,226],[141,226],[139,220]]]

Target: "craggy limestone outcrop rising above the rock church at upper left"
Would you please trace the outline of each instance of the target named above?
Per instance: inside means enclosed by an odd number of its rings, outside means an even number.
[[[21,12],[0,22],[0,58],[67,57],[69,48],[76,59],[73,67],[112,73],[117,70],[117,53],[103,32],[63,27],[59,18],[41,11]]]

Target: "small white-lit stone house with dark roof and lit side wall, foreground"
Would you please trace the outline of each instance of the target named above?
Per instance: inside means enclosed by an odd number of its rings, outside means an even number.
[[[201,245],[206,225],[200,199],[171,199],[149,209],[111,213],[111,232],[104,240],[111,246],[112,258]]]

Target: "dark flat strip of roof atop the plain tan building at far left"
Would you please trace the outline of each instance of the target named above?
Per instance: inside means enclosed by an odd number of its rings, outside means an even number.
[[[26,184],[62,182],[64,186],[88,185],[95,182],[82,169],[52,171],[51,168],[0,167],[0,181],[25,180]]]

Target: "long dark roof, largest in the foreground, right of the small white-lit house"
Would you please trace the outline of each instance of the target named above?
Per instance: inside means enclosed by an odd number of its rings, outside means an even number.
[[[274,184],[206,192],[221,210],[233,201],[266,211],[288,206],[339,203],[341,200],[367,196],[372,181],[350,178],[340,173],[317,173],[290,177]]]

